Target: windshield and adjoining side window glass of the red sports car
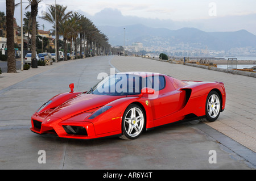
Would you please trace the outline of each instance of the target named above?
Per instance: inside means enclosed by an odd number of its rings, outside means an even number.
[[[158,91],[165,86],[163,76],[151,75],[149,77],[143,77],[137,74],[109,75],[97,83],[96,86],[90,88],[86,93],[97,95],[137,95],[141,94],[143,87],[150,87]]]

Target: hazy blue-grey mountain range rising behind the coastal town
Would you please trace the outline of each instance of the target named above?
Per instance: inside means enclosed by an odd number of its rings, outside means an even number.
[[[125,30],[123,29],[125,27]],[[142,24],[114,27],[99,26],[109,37],[111,45],[126,45],[139,41],[144,47],[200,48],[230,50],[231,48],[256,47],[256,36],[246,30],[235,32],[205,32],[197,28],[151,28]],[[125,36],[125,37],[124,37]]]

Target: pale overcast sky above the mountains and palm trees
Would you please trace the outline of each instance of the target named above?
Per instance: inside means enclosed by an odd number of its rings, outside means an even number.
[[[15,3],[19,2],[15,1]],[[55,3],[55,1],[42,1],[39,10],[46,9],[47,5],[52,3]],[[90,16],[106,8],[112,8],[120,11],[123,16],[138,16],[139,18],[172,20],[177,22],[256,14],[255,0],[56,0],[56,3],[68,6],[68,10],[84,12],[85,15]],[[27,5],[27,0],[23,0],[23,9]],[[6,13],[5,9],[5,0],[0,0],[0,11]],[[20,7],[15,9],[15,18],[19,24]],[[41,22],[42,20],[40,20]],[[236,22],[234,26],[239,29],[240,23],[245,24],[246,22]],[[101,24],[96,25],[101,26]],[[218,25],[216,24],[216,26]],[[255,24],[251,24],[251,22],[248,22],[247,26],[251,26],[251,30],[256,30]],[[255,34],[256,31],[253,33]]]

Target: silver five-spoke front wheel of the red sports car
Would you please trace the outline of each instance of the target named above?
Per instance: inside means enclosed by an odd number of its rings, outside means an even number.
[[[138,138],[144,129],[145,116],[141,107],[130,104],[123,113],[122,136],[120,138],[131,140]]]

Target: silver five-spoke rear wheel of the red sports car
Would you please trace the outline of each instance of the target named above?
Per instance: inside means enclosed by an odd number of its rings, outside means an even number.
[[[213,122],[218,119],[221,111],[220,95],[216,91],[210,91],[205,103],[205,118],[201,121]]]

